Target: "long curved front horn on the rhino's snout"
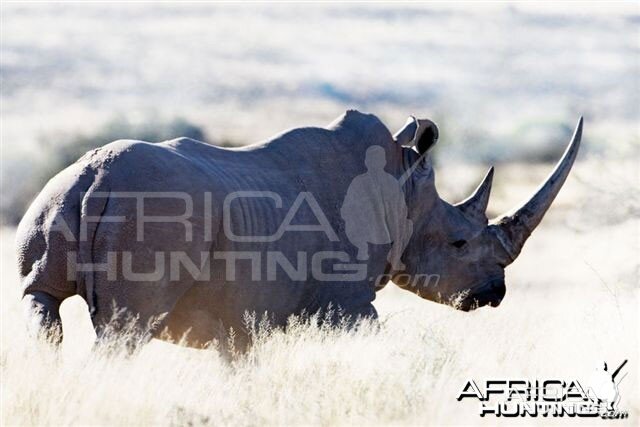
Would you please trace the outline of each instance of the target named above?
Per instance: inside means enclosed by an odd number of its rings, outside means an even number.
[[[542,217],[551,206],[564,184],[571,166],[578,155],[582,138],[582,117],[573,133],[573,138],[562,158],[545,183],[521,207],[493,221],[497,226],[498,238],[513,261],[524,246],[524,242],[540,224]]]

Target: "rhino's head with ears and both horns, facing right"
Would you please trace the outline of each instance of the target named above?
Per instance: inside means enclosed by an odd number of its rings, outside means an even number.
[[[410,118],[395,136],[398,144],[411,145],[405,153],[410,177],[405,183],[414,232],[402,255],[403,270],[393,281],[419,296],[469,311],[497,307],[505,292],[505,267],[520,254],[564,184],[574,163],[582,135],[582,118],[573,138],[544,184],[521,206],[489,220],[493,168],[466,200],[449,204],[437,193],[428,156],[438,139],[429,120]],[[436,277],[416,280],[420,277]]]

